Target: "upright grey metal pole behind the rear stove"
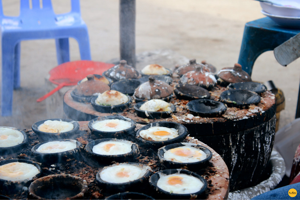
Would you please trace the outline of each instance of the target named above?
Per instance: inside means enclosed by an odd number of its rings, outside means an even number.
[[[135,67],[135,0],[120,0],[120,58]]]

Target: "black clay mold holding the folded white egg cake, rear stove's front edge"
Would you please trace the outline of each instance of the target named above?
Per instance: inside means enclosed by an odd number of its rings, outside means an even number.
[[[140,107],[145,103],[146,101],[136,103],[134,105],[134,111],[137,113],[137,116],[142,118],[148,118],[148,119],[161,119],[161,118],[168,118],[176,111],[176,106],[174,106],[172,103],[171,110],[170,111],[145,111],[141,110]]]

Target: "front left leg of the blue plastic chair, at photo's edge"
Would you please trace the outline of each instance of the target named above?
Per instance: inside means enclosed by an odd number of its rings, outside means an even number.
[[[2,84],[1,84],[1,115],[10,116],[12,114],[13,105],[13,53],[15,47],[11,45],[11,41],[2,38]]]

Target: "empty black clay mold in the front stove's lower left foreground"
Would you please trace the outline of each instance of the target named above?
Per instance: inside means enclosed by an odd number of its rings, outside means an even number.
[[[88,184],[70,174],[44,176],[29,186],[30,199],[83,199]]]

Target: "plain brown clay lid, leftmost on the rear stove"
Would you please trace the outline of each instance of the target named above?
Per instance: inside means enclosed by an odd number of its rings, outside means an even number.
[[[93,96],[95,93],[103,93],[104,91],[110,90],[110,86],[103,81],[95,80],[94,75],[90,74],[86,77],[88,80],[80,83],[73,90],[75,94],[80,96]]]

